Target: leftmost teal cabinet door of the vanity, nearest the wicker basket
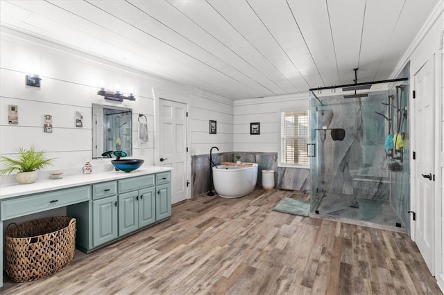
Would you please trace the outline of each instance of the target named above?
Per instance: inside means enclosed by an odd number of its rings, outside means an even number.
[[[117,196],[93,202],[94,247],[117,238]]]

